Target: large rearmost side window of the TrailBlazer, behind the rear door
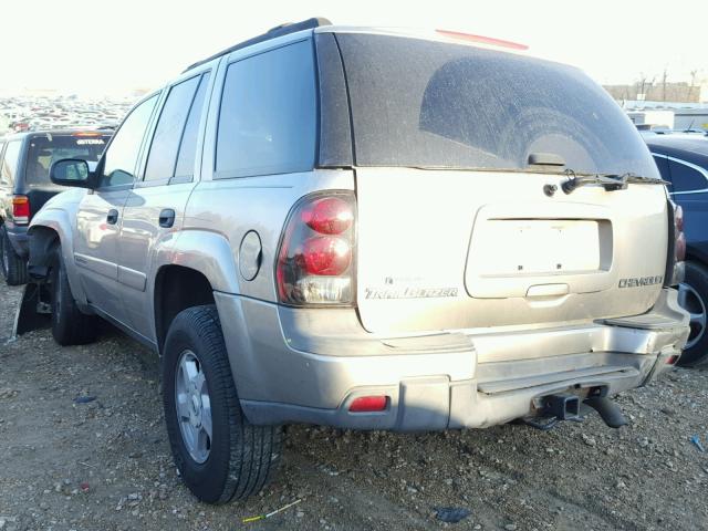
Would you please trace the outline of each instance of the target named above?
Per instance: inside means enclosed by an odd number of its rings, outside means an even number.
[[[229,65],[219,111],[215,177],[312,169],[316,107],[310,40]]]

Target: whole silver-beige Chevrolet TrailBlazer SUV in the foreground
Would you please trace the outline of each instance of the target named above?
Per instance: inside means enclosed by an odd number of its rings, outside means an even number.
[[[29,266],[54,339],[98,315],[162,355],[199,499],[258,492],[283,424],[550,427],[585,403],[618,427],[610,397],[676,363],[656,165],[602,87],[521,48],[283,25],[145,97],[95,171],[54,163],[76,189]]]

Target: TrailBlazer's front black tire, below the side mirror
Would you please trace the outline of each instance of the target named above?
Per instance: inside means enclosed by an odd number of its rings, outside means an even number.
[[[96,340],[98,317],[86,315],[71,293],[61,249],[56,250],[50,272],[52,293],[52,335],[60,345],[85,345]]]

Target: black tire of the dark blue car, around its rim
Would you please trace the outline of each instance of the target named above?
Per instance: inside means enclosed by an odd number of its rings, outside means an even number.
[[[684,283],[691,291],[690,296],[686,298],[686,310],[694,314],[704,312],[704,325],[702,330],[699,330],[700,326],[696,322],[691,324],[688,344],[694,344],[684,351],[678,364],[684,367],[695,367],[708,363],[708,330],[705,325],[706,309],[708,309],[708,269],[698,262],[686,262]]]

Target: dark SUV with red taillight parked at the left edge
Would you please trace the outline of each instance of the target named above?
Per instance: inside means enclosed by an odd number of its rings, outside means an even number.
[[[96,162],[110,138],[105,131],[50,131],[0,139],[0,272],[8,284],[27,282],[28,226],[50,197],[63,191],[49,178],[52,163]]]

